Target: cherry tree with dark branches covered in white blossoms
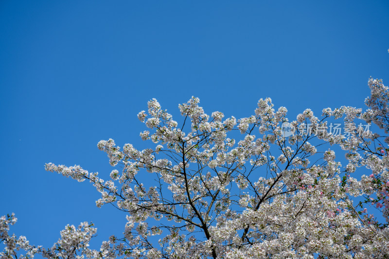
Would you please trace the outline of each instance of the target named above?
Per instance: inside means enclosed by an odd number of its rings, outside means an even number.
[[[365,111],[325,108],[316,117],[306,109],[293,121],[270,98],[237,120],[209,116],[192,97],[178,105],[178,124],[153,99],[138,114],[150,148],[98,143],[111,179],[45,166],[88,180],[101,193],[98,207],[125,211],[123,235],[93,250],[92,224],[67,225],[46,249],[8,233],[12,214],[0,218],[0,258],[389,258],[389,92],[382,80],[368,84]],[[332,120],[347,134],[331,133]],[[153,181],[142,183],[145,174]]]

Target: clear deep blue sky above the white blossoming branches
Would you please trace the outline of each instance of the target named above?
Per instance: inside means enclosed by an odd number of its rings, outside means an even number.
[[[15,212],[11,232],[36,245],[82,221],[95,245],[121,233],[123,212],[44,164],[107,179],[97,142],[144,148],[136,115],[152,98],[176,117],[192,95],[237,118],[265,97],[291,120],[364,107],[370,76],[389,85],[388,13],[385,0],[1,1],[0,214]]]

